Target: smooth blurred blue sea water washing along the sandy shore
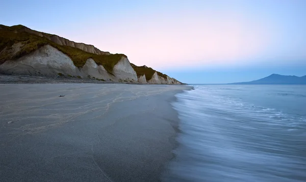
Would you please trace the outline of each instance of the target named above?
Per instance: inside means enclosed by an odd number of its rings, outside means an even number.
[[[306,85],[193,86],[166,181],[306,181]]]

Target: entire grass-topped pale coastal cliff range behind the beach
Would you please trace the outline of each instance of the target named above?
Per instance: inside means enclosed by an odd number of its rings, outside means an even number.
[[[0,25],[0,73],[96,79],[140,84],[182,84],[146,66],[131,64],[124,54],[34,31]]]

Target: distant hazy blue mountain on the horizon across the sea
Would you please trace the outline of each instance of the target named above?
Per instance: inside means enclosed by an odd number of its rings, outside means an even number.
[[[237,83],[228,83],[228,84],[306,84],[306,75],[305,76],[285,76],[272,74],[265,78],[249,81],[249,82],[237,82]]]

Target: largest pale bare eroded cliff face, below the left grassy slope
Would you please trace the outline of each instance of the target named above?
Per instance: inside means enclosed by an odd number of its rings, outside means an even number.
[[[78,68],[73,65],[70,57],[50,45],[45,45],[16,60],[7,60],[0,65],[0,73],[48,77],[63,75],[105,81],[137,82],[136,72],[125,57],[122,57],[114,66],[114,75],[111,75],[102,65],[97,65],[92,58],[87,59],[83,67]]]

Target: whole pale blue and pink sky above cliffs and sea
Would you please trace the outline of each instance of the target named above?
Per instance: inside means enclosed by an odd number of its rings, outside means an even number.
[[[306,75],[304,0],[1,1],[0,24],[124,53],[185,83]]]

